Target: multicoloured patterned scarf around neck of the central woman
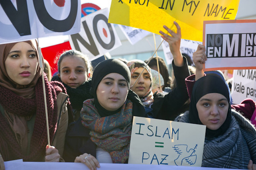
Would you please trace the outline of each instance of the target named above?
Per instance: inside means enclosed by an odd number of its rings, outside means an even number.
[[[80,112],[83,126],[91,130],[91,141],[108,151],[113,163],[125,163],[129,158],[132,105],[127,99],[119,112],[101,117],[95,108],[94,99],[88,99],[84,101]]]

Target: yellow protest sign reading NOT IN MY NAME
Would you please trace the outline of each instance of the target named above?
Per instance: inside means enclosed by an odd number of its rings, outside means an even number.
[[[203,21],[233,20],[238,5],[239,0],[112,0],[109,23],[159,34],[176,20],[183,39],[203,41]]]

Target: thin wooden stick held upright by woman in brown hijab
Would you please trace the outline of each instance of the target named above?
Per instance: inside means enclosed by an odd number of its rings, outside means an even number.
[[[38,46],[38,54],[39,54],[39,66],[42,69],[42,83],[43,83],[43,91],[44,91],[44,103],[45,103],[45,117],[46,117],[46,130],[47,130],[47,139],[48,145],[50,146],[50,133],[49,133],[49,120],[48,120],[48,110],[47,110],[47,103],[46,103],[46,92],[45,92],[45,79],[44,79],[44,66],[43,66],[43,57],[41,48]]]

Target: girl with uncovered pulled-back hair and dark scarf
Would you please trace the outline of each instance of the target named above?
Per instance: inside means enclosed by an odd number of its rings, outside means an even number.
[[[91,62],[87,55],[80,51],[68,50],[58,59],[58,75],[52,81],[61,82],[67,89],[72,112],[69,111],[69,123],[80,117],[83,101],[93,98],[91,88]]]

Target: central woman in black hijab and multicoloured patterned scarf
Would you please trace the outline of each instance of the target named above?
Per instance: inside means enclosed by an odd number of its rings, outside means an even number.
[[[95,67],[91,82],[94,99],[84,101],[81,118],[69,127],[65,161],[76,158],[75,162],[89,168],[96,168],[98,161],[128,162],[132,118],[146,116],[138,95],[129,90],[130,77],[128,66],[118,59],[105,60]]]

